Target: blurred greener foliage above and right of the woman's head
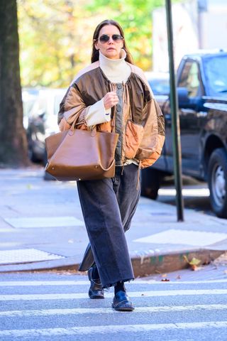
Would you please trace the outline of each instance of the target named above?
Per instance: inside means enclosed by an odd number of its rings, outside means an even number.
[[[135,64],[145,71],[152,68],[152,11],[164,5],[165,0],[91,0],[87,9],[121,24]]]

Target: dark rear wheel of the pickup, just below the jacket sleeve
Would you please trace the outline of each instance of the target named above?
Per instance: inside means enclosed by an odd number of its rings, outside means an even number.
[[[141,171],[141,195],[150,199],[157,199],[157,192],[160,188],[160,172],[156,169],[145,168]]]

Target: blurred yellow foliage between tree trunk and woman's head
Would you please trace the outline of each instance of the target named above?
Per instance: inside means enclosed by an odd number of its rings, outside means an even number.
[[[21,84],[67,87],[90,62],[95,18],[87,0],[18,0]]]

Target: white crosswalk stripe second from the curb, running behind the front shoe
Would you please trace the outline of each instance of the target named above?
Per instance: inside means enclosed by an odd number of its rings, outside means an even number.
[[[157,296],[198,296],[198,295],[226,295],[227,289],[204,290],[157,290],[157,291],[131,291],[130,297],[157,297]],[[73,300],[87,298],[87,293],[33,293],[19,295],[2,295],[0,301],[42,301],[42,300]],[[113,293],[105,293],[106,298],[112,298]]]

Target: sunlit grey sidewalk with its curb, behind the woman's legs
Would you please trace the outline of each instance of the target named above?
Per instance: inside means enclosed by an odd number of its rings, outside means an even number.
[[[77,270],[88,238],[76,183],[43,180],[43,169],[0,170],[0,272]],[[227,250],[227,220],[140,198],[126,233],[135,276],[209,263]]]

